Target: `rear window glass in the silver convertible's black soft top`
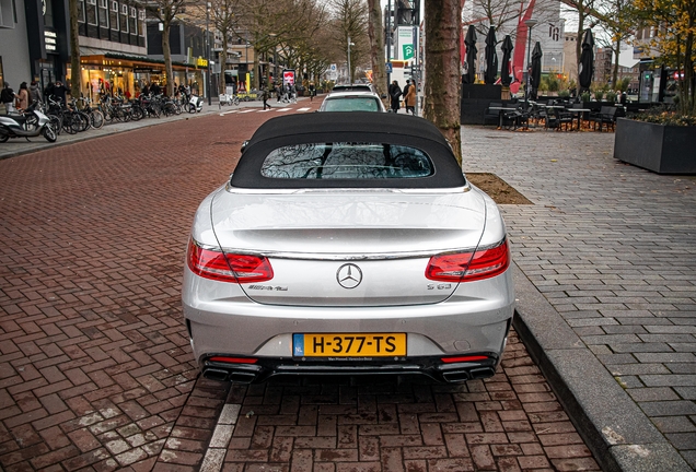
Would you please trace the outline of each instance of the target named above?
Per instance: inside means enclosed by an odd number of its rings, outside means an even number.
[[[262,176],[275,179],[391,179],[433,174],[422,151],[394,144],[329,142],[287,145],[271,151]]]

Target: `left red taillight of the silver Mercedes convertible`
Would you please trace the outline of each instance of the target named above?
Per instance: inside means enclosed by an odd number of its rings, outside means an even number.
[[[266,282],[274,278],[270,262],[263,256],[204,249],[193,238],[188,243],[186,260],[195,274],[220,282]]]

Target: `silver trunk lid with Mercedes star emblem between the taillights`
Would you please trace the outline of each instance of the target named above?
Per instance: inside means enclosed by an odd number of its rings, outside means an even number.
[[[385,306],[446,299],[456,283],[425,276],[430,256],[475,248],[486,204],[474,190],[452,193],[221,190],[212,223],[229,252],[269,258],[274,279],[242,284],[257,303]]]

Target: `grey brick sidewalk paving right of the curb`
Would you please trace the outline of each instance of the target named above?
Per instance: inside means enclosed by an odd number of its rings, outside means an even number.
[[[696,179],[615,161],[613,133],[462,135],[465,170],[535,203],[503,208],[523,274],[696,468]]]

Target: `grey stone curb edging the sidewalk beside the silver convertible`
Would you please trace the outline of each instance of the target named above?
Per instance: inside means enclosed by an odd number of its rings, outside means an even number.
[[[514,329],[607,472],[693,472],[676,449],[513,264]]]

